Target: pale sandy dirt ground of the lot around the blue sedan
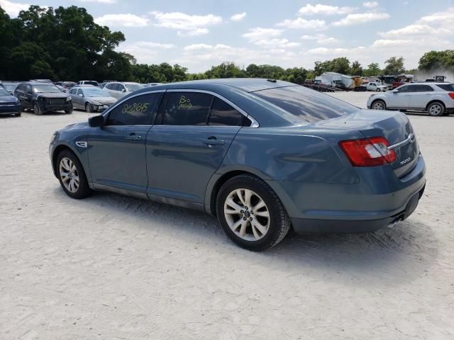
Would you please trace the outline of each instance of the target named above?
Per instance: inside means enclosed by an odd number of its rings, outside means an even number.
[[[67,197],[48,143],[86,113],[0,118],[0,339],[454,339],[454,116],[409,117],[428,166],[414,215],[262,253],[199,212]]]

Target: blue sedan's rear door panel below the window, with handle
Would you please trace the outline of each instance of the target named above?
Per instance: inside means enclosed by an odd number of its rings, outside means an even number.
[[[204,203],[206,184],[238,130],[236,126],[154,125],[146,140],[148,194]]]

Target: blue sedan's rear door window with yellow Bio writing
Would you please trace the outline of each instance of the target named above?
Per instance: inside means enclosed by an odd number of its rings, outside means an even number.
[[[213,96],[201,92],[167,92],[160,106],[160,125],[206,125]]]

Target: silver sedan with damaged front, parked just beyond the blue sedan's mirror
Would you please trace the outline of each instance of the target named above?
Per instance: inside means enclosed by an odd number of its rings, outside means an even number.
[[[116,102],[116,98],[96,86],[74,86],[68,94],[74,108],[82,108],[87,112],[102,112]]]

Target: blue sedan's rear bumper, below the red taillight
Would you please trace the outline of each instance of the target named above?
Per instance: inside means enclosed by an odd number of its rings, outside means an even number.
[[[303,233],[368,232],[386,227],[409,217],[426,185],[421,156],[400,179],[390,166],[358,171],[358,184],[267,183],[282,200],[295,231]]]

